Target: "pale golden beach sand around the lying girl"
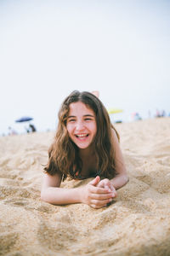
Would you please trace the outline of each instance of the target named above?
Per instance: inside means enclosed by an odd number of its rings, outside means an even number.
[[[40,200],[54,132],[0,137],[0,255],[170,255],[170,118],[116,129],[130,180],[99,210]]]

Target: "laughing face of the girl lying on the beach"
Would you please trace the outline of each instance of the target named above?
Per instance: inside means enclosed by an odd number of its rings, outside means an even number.
[[[97,131],[94,111],[82,102],[71,103],[66,128],[78,148],[88,148]]]

